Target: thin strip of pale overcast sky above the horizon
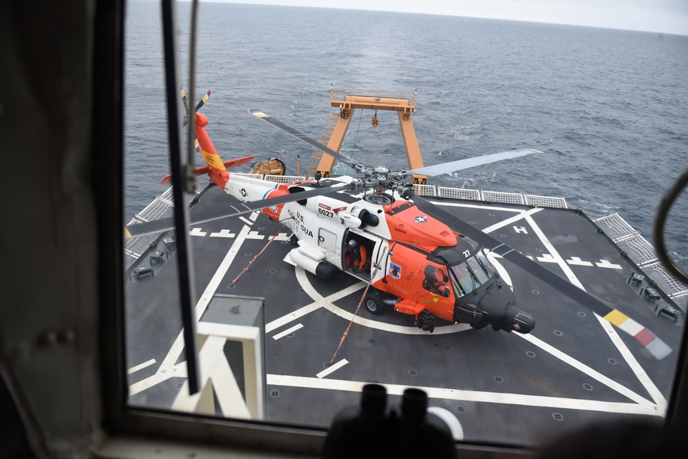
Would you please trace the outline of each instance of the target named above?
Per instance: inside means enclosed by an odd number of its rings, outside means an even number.
[[[592,25],[688,35],[688,0],[207,0]]]

